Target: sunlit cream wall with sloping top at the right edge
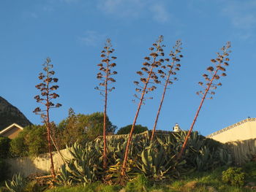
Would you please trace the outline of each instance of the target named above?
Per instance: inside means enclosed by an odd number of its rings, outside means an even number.
[[[223,128],[207,137],[219,142],[233,142],[256,138],[256,118],[247,118],[238,123]]]

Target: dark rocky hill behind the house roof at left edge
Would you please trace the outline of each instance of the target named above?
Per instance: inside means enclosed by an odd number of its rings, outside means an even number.
[[[23,127],[31,125],[31,122],[17,107],[0,96],[0,131],[12,123],[17,123]]]

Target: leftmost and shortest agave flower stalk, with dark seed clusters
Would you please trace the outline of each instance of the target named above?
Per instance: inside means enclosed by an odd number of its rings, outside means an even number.
[[[37,100],[37,103],[42,104],[45,109],[41,110],[40,107],[37,107],[34,110],[34,113],[37,115],[41,115],[42,122],[45,123],[47,128],[47,140],[48,140],[48,151],[50,153],[50,173],[53,177],[56,177],[56,172],[53,164],[53,154],[52,154],[52,145],[51,145],[51,133],[50,133],[50,109],[61,107],[61,104],[53,103],[53,99],[59,97],[55,91],[59,88],[59,85],[56,85],[58,79],[53,77],[55,72],[52,70],[53,65],[50,64],[50,58],[46,58],[45,64],[43,66],[43,72],[39,73],[39,80],[42,80],[41,83],[36,85],[36,88],[41,92],[40,95],[34,96],[34,99]]]

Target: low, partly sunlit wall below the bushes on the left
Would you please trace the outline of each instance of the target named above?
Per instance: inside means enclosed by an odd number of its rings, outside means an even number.
[[[61,154],[64,155],[65,159],[70,159],[72,155],[68,150],[61,150]],[[9,158],[6,160],[9,164],[9,175],[20,173],[24,176],[29,174],[40,173],[49,174],[50,173],[50,155],[48,153],[39,155],[35,158],[32,157],[20,157],[20,158]],[[53,162],[56,171],[59,170],[64,161],[58,152],[53,152]]]

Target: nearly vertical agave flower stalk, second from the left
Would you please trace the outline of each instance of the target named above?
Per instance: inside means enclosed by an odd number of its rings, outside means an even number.
[[[113,60],[116,59],[114,56],[110,56],[111,53],[113,53],[114,49],[111,48],[111,41],[110,39],[107,39],[104,50],[102,50],[102,63],[98,64],[99,66],[99,72],[97,74],[97,79],[100,80],[99,86],[103,87],[102,89],[99,87],[96,87],[95,89],[100,91],[100,95],[104,97],[105,105],[104,105],[104,116],[103,116],[103,139],[104,139],[104,147],[103,147],[103,168],[107,168],[107,139],[106,139],[106,130],[107,130],[107,106],[108,106],[108,93],[113,91],[115,87],[111,86],[109,87],[110,83],[116,82],[116,80],[113,79],[113,75],[117,74],[116,71],[113,71],[113,68],[116,66],[116,63],[113,63]]]

